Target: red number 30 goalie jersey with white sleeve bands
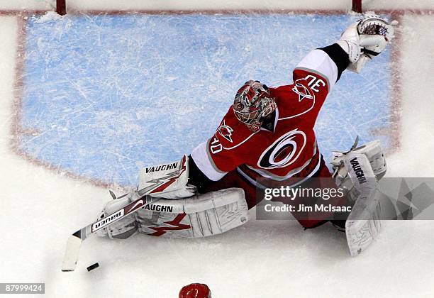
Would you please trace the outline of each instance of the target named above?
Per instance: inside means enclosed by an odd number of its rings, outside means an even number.
[[[214,136],[191,153],[199,170],[213,181],[236,170],[253,185],[258,177],[286,180],[315,175],[322,158],[313,127],[342,72],[328,52],[309,53],[293,72],[294,84],[269,88],[277,104],[274,123],[252,132],[230,108]],[[346,53],[343,59],[347,63]]]

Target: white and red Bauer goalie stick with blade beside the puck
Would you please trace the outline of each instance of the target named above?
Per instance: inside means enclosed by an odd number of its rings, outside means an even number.
[[[181,162],[179,163],[179,167],[177,168],[177,170],[170,172],[165,177],[161,177],[160,179],[149,181],[149,183],[151,184],[150,187],[145,187],[138,190],[139,197],[134,202],[131,202],[125,207],[119,209],[118,211],[109,214],[109,216],[105,216],[104,219],[99,219],[98,221],[95,221],[94,223],[91,223],[84,228],[79,229],[77,232],[69,236],[67,241],[67,248],[65,251],[65,257],[63,258],[62,263],[62,271],[67,272],[75,270],[79,258],[80,246],[86,238],[88,238],[101,228],[106,228],[112,223],[118,221],[119,219],[123,219],[123,217],[133,214],[138,209],[152,204],[153,202],[156,202],[158,199],[160,199],[158,197],[150,197],[148,194],[159,194],[165,192],[167,187],[176,182],[179,176],[181,176],[182,173],[187,170],[186,164],[187,156],[184,156],[184,158],[182,158]],[[116,199],[116,195],[114,195],[113,192],[110,192],[110,194],[113,199]]]

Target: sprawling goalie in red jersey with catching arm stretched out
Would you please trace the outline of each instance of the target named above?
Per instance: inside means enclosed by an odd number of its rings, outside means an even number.
[[[122,197],[111,193],[113,201],[106,204],[101,219],[140,194],[159,192],[152,204],[101,229],[99,236],[128,238],[144,233],[189,238],[223,233],[249,220],[248,210],[257,204],[258,179],[308,182],[323,177],[347,190],[343,200],[330,204],[352,206],[352,211],[332,223],[345,231],[351,255],[360,253],[379,232],[375,193],[386,172],[382,148],[374,141],[333,153],[332,174],[313,127],[343,72],[360,72],[382,53],[394,37],[392,25],[375,15],[353,23],[336,43],[312,50],[299,62],[293,84],[267,87],[256,80],[245,82],[211,138],[179,161],[143,168],[138,192]],[[351,104],[359,99],[347,100]],[[297,201],[303,204],[301,198]],[[304,228],[330,221],[329,214],[315,219],[293,215]]]

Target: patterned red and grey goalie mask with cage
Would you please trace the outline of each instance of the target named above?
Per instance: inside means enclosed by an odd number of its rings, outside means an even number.
[[[265,84],[250,80],[238,90],[232,108],[238,120],[256,132],[262,125],[262,118],[276,109],[276,102]]]

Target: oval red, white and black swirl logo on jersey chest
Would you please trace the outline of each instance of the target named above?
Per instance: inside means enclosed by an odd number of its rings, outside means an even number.
[[[299,158],[306,145],[306,134],[297,128],[278,138],[262,153],[257,165],[263,169],[286,167]]]

